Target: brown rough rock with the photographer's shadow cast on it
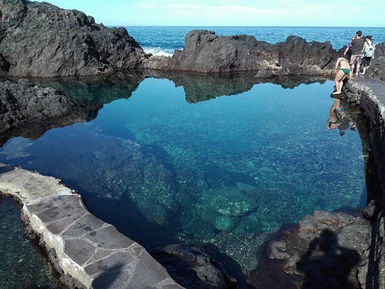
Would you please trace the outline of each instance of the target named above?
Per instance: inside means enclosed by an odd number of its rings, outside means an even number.
[[[365,286],[370,232],[362,218],[315,211],[267,241],[248,282],[272,289]]]

